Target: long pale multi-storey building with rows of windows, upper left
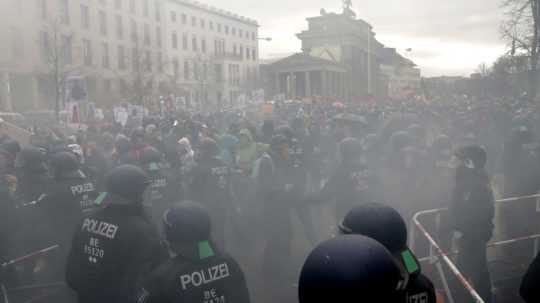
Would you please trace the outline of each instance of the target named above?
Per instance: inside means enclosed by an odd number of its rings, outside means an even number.
[[[70,77],[102,107],[234,100],[258,66],[257,22],[179,0],[4,0],[0,41],[2,111],[63,108]]]

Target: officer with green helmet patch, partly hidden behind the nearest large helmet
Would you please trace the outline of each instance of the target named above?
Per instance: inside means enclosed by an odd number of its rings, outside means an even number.
[[[422,274],[420,264],[407,247],[407,226],[393,208],[377,203],[357,206],[345,216],[339,230],[342,234],[360,234],[377,240],[394,256],[404,283],[405,302],[435,303],[433,283]]]

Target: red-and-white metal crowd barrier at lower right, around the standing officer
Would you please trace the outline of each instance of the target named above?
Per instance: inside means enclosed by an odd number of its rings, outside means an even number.
[[[511,198],[505,198],[505,199],[499,199],[496,200],[496,204],[503,204],[503,203],[510,203],[520,200],[526,200],[526,199],[533,199],[536,198],[536,211],[540,212],[540,194],[535,195],[527,195],[527,196],[520,196],[520,197],[511,197]],[[484,303],[482,298],[478,295],[476,290],[471,286],[471,284],[467,281],[467,279],[463,276],[463,274],[459,271],[457,266],[454,264],[454,262],[450,259],[451,256],[459,254],[459,252],[444,252],[440,246],[437,244],[437,242],[433,239],[432,235],[426,230],[426,228],[422,225],[422,223],[419,221],[419,218],[421,216],[426,215],[433,215],[435,214],[435,226],[437,227],[437,230],[439,230],[440,223],[441,223],[441,213],[444,211],[448,211],[447,208],[439,208],[439,209],[430,209],[430,210],[424,210],[416,213],[413,216],[413,225],[411,226],[411,234],[410,234],[410,241],[409,246],[414,251],[415,249],[415,242],[416,242],[416,234],[418,231],[424,235],[424,237],[429,242],[429,256],[424,258],[419,258],[420,262],[426,262],[429,261],[431,264],[435,264],[437,268],[437,272],[440,275],[441,283],[444,287],[444,291],[446,293],[446,296],[448,298],[448,301],[450,303],[454,303],[454,298],[452,296],[452,292],[450,291],[450,287],[448,286],[448,280],[446,279],[446,276],[444,274],[442,265],[441,265],[441,259],[444,263],[448,266],[450,271],[458,278],[460,283],[465,287],[467,292],[471,295],[471,297],[475,300],[477,303]],[[520,241],[526,241],[526,240],[534,240],[534,249],[533,249],[533,257],[536,256],[538,253],[539,245],[540,245],[540,234],[534,234],[529,236],[523,236],[518,237],[514,239],[509,240],[503,240],[498,242],[492,242],[487,245],[487,247],[497,247],[502,245],[508,245],[512,243],[517,243]]]

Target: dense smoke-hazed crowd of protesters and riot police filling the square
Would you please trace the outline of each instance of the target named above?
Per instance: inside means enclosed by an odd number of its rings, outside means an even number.
[[[540,110],[446,101],[106,119],[24,145],[3,133],[0,255],[59,248],[2,281],[65,281],[58,302],[435,302],[407,228],[448,208],[426,224],[447,250],[457,239],[458,268],[495,302],[487,243],[538,229],[535,199],[497,219],[494,200],[540,190]],[[528,265],[532,249],[504,253]]]

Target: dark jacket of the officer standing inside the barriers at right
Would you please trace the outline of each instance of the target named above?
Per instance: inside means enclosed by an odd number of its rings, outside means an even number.
[[[458,169],[449,207],[451,229],[461,232],[467,239],[489,241],[493,235],[494,203],[484,170]]]

